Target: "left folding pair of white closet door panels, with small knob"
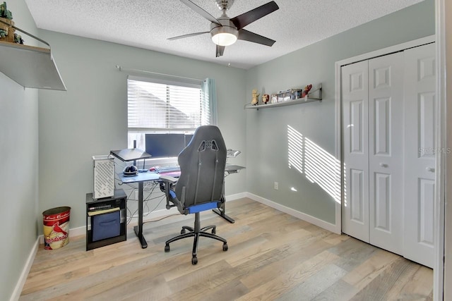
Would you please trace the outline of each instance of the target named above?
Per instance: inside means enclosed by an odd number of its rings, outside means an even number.
[[[343,232],[403,249],[403,54],[342,68]]]

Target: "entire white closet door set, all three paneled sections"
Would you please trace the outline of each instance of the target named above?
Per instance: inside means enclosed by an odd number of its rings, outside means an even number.
[[[433,266],[434,44],[341,72],[343,232]]]

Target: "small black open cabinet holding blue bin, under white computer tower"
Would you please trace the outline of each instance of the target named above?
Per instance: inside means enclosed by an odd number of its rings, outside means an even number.
[[[114,190],[113,197],[93,199],[86,194],[86,250],[111,245],[127,239],[126,193]]]

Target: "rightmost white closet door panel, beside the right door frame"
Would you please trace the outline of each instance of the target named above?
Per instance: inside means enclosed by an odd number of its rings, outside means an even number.
[[[405,50],[405,243],[403,256],[434,264],[435,45]]]

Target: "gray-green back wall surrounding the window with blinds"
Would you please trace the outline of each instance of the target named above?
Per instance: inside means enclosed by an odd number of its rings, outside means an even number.
[[[244,151],[245,70],[46,30],[39,34],[52,46],[67,87],[67,92],[39,92],[41,211],[70,206],[71,228],[85,226],[85,194],[93,192],[92,156],[127,147],[127,73],[117,65],[215,78],[218,125],[227,147]],[[245,155],[236,160],[244,164]],[[245,173],[227,177],[226,195],[244,192]]]

